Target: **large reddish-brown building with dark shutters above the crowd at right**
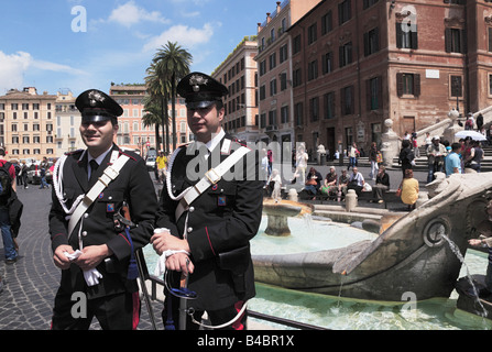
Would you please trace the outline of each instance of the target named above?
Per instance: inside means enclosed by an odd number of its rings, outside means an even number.
[[[490,106],[492,4],[485,0],[321,1],[294,23],[295,138],[314,156],[380,144]]]

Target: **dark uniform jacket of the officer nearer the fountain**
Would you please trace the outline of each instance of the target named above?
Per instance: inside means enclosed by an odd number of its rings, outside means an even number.
[[[231,150],[226,147],[223,151],[226,139],[231,140],[226,135],[220,141],[205,162],[205,170],[218,166],[241,145],[232,139]],[[174,161],[171,161],[172,164],[170,163],[174,196],[181,195],[204,175],[201,169],[197,178],[194,172],[194,166],[197,165],[195,154],[187,155],[186,150],[182,147]],[[256,234],[262,215],[263,183],[259,180],[258,162],[258,153],[248,153],[231,169],[236,177],[231,172],[226,174],[216,185],[206,189],[177,221],[177,201],[170,197],[167,184],[164,185],[156,228],[167,228],[173,235],[183,238],[188,216],[187,240],[195,265],[188,288],[198,295],[197,299],[188,300],[188,307],[218,310],[255,295],[249,241]]]

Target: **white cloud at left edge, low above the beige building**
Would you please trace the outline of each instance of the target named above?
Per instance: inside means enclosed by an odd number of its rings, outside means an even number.
[[[23,88],[25,76],[32,69],[65,73],[72,76],[87,75],[85,72],[67,65],[36,61],[30,53],[17,52],[7,55],[0,51],[0,95],[12,88]]]

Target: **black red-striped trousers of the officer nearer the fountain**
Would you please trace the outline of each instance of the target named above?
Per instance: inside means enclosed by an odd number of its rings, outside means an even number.
[[[171,299],[170,299],[171,298]],[[227,307],[220,310],[207,310],[208,319],[210,322],[207,324],[211,326],[221,326],[226,322],[231,321],[234,317],[238,316],[241,310],[243,301],[238,301],[236,305],[231,307]],[[193,300],[189,300],[189,306],[193,306]],[[193,318],[196,321],[201,321],[201,317],[205,311],[195,310],[193,314]],[[189,315],[186,315],[186,330],[198,330],[200,328],[199,324],[193,322],[193,319]],[[175,296],[166,296],[164,301],[164,309],[162,311],[162,320],[164,323],[164,329],[166,330],[178,330],[179,329],[179,298]],[[248,310],[236,319],[231,324],[223,327],[218,330],[247,330],[247,320],[248,320]]]

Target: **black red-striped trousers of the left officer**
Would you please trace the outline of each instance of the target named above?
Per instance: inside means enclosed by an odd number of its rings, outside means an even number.
[[[139,293],[122,293],[95,299],[58,290],[52,330],[88,330],[92,318],[103,330],[135,330],[140,321]]]

